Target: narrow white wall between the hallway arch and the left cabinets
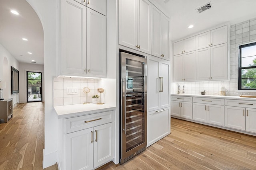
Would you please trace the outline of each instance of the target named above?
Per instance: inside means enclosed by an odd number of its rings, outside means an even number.
[[[43,168],[55,164],[57,156],[58,119],[53,108],[53,77],[59,57],[60,0],[27,0],[44,29],[44,160]]]

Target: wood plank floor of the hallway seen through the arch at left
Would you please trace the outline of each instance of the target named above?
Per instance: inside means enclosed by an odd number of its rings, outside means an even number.
[[[43,102],[18,104],[8,123],[0,120],[0,170],[42,170],[43,149]]]

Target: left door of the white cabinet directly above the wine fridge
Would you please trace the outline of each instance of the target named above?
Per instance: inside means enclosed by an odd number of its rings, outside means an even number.
[[[136,49],[138,40],[137,0],[119,1],[119,44]]]

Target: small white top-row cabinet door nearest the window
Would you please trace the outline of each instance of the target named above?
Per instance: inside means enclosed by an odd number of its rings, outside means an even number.
[[[228,27],[220,27],[211,31],[211,46],[228,42]]]

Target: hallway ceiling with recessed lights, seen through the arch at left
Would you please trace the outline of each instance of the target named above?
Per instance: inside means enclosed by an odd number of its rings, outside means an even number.
[[[10,10],[16,10],[20,15],[14,15]],[[0,0],[0,43],[20,63],[34,60],[36,64],[44,64],[43,27],[26,0]]]

